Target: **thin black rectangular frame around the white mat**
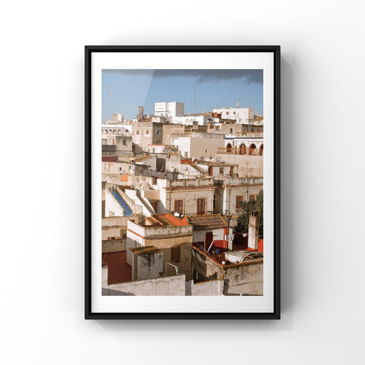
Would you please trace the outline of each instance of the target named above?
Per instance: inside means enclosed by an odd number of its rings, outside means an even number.
[[[110,313],[92,312],[92,54],[99,52],[255,52],[273,53],[273,312],[257,313]],[[86,319],[279,319],[280,318],[280,46],[86,46],[85,47],[85,318]]]

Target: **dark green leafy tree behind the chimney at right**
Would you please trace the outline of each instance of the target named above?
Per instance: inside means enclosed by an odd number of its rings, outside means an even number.
[[[260,192],[256,196],[256,200],[241,201],[242,213],[237,218],[237,225],[235,230],[237,232],[247,233],[249,231],[249,221],[251,211],[256,210],[259,212],[260,227],[259,236],[264,238],[264,191]]]

